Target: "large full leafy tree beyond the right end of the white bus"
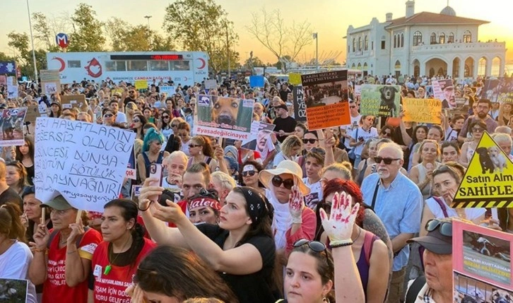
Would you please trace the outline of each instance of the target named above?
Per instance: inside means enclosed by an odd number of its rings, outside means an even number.
[[[239,39],[228,13],[213,0],[177,0],[165,8],[164,30],[189,51],[207,52],[214,73],[235,66],[239,54],[233,50]],[[228,40],[228,45],[227,45]]]

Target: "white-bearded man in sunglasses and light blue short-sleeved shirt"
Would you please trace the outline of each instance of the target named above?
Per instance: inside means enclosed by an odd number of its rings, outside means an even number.
[[[375,157],[377,172],[362,182],[363,200],[375,209],[389,233],[394,250],[394,266],[389,289],[389,303],[403,298],[403,282],[410,255],[406,241],[419,232],[423,198],[418,186],[399,170],[403,150],[396,143],[384,143]]]

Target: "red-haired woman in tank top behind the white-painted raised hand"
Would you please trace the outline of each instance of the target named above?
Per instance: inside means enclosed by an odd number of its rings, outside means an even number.
[[[355,182],[343,179],[331,179],[324,183],[324,198],[317,206],[316,215],[317,222],[320,222],[319,210],[321,208],[330,213],[333,198],[337,192],[346,192],[353,198],[353,205],[360,203],[358,215],[356,215],[355,224],[353,225],[353,256],[356,260],[356,266],[360,272],[363,290],[365,292],[365,302],[384,302],[387,294],[389,280],[389,255],[387,245],[382,242],[372,232],[363,229],[363,219],[365,216],[365,203],[360,188]],[[318,224],[315,239],[328,243],[329,240],[324,233],[322,225]]]

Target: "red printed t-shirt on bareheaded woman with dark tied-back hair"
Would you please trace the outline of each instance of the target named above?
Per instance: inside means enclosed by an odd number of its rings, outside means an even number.
[[[111,265],[111,270],[104,275],[105,267],[110,264],[108,254],[109,242],[102,242],[98,245],[91,263],[93,275],[95,276],[94,302],[117,302],[130,303],[130,297],[124,292],[126,287],[132,284],[132,276],[136,273],[137,266],[141,260],[157,246],[151,240],[144,238],[144,246],[135,263],[127,266]]]

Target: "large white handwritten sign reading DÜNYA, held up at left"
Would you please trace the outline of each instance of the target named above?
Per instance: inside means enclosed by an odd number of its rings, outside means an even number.
[[[61,194],[74,208],[103,212],[119,197],[136,133],[47,117],[35,124],[37,199]]]

